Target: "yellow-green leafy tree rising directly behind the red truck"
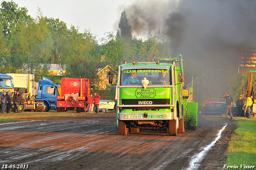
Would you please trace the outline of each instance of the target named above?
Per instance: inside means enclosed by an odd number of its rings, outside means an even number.
[[[100,56],[98,56],[96,37],[85,30],[79,33],[74,26],[68,35],[64,35],[61,42],[60,63],[66,64],[66,71],[70,77],[85,77],[93,81],[97,76]]]

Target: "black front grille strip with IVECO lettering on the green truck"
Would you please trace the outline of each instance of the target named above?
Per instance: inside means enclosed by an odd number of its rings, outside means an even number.
[[[159,109],[159,108],[170,108],[170,107],[143,107],[142,105],[151,104],[170,104],[170,99],[122,99],[122,104],[124,105],[138,105],[138,107],[123,108],[123,109]]]

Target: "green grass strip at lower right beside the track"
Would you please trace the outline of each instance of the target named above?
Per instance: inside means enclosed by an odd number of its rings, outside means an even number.
[[[256,118],[234,118],[238,127],[230,140],[227,151],[227,166],[256,166]],[[243,169],[243,168],[242,168]]]

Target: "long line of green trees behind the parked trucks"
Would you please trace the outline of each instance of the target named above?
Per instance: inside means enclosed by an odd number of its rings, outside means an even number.
[[[65,77],[81,76],[97,83],[101,81],[98,69],[104,66],[117,70],[124,60],[150,61],[153,54],[157,57],[172,56],[170,41],[160,28],[155,33],[148,32],[144,41],[132,37],[125,11],[120,17],[120,31],[116,34],[106,32],[106,38],[99,41],[90,30],[81,33],[75,26],[67,28],[65,22],[43,16],[40,9],[38,16],[32,18],[25,7],[18,7],[13,1],[2,1],[0,20],[0,73],[35,74],[36,81],[45,76],[56,84],[60,83],[61,77],[48,75],[49,64],[65,67]],[[188,78],[200,75],[200,68],[196,69],[193,60],[185,63],[187,68],[193,68],[193,72],[185,68]],[[211,94],[208,92],[211,87],[200,82],[207,81],[198,81],[194,90],[196,102],[202,103],[207,95],[213,95],[215,100],[220,98],[219,93]],[[113,86],[106,89],[103,98],[114,100]]]

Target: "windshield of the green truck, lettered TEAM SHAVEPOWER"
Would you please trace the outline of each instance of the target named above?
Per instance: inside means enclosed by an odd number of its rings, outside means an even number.
[[[152,85],[170,85],[170,70],[123,70],[121,82],[122,85],[139,85],[145,78]]]

